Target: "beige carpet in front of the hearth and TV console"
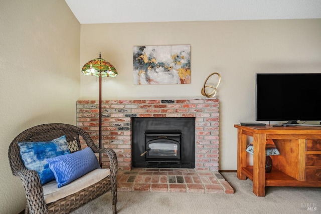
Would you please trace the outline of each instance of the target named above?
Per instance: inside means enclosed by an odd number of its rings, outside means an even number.
[[[231,172],[221,174],[234,188],[234,194],[118,192],[117,211],[119,214],[321,213],[319,187],[266,187],[266,196],[257,197],[250,179],[239,180]],[[76,213],[112,213],[110,192],[73,212]]]

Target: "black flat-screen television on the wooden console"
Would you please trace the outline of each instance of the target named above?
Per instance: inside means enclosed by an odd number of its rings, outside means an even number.
[[[257,121],[321,121],[321,74],[256,74]]]

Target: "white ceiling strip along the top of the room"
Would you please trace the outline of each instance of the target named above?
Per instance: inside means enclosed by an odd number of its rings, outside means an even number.
[[[65,1],[80,24],[321,18],[321,0]]]

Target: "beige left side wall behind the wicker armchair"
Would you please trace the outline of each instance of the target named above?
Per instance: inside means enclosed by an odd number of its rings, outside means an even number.
[[[0,213],[18,213],[25,193],[8,148],[38,124],[76,124],[80,24],[63,0],[0,2]]]

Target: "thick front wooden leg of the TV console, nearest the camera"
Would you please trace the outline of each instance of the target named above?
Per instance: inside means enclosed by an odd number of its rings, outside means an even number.
[[[253,135],[253,193],[265,196],[265,134]]]

